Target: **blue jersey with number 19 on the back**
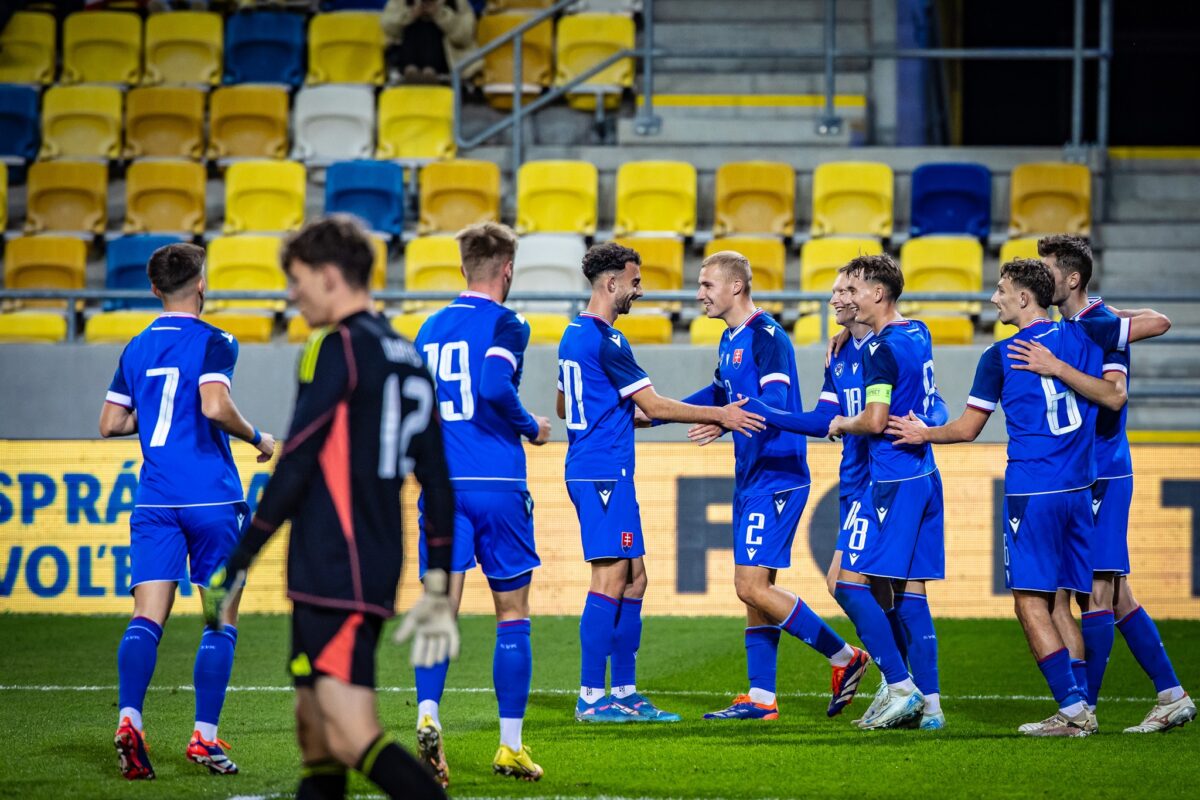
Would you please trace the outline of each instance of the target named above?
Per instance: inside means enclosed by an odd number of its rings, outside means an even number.
[[[461,489],[526,488],[521,438],[536,435],[538,422],[516,390],[528,344],[524,318],[474,291],[430,317],[416,335],[437,385],[450,477]]]

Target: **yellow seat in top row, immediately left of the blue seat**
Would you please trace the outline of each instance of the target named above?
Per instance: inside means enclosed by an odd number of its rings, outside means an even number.
[[[146,66],[143,82],[221,83],[224,34],[221,14],[173,11],[146,18]]]

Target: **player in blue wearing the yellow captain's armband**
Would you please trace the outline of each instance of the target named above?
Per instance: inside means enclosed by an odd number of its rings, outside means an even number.
[[[923,323],[904,319],[896,311],[904,275],[890,257],[859,255],[839,271],[848,278],[846,294],[856,321],[875,333],[862,356],[863,410],[829,422],[830,437],[863,435],[870,453],[871,486],[862,503],[870,524],[857,564],[842,563],[834,590],[888,682],[887,696],[881,693],[858,724],[894,728],[919,718],[922,729],[942,728],[937,633],[925,589],[926,582],[946,577],[942,479],[931,447],[894,447],[884,435],[892,409],[916,419],[934,407],[932,344]],[[892,583],[912,676],[887,614],[872,595],[871,584],[877,582]]]

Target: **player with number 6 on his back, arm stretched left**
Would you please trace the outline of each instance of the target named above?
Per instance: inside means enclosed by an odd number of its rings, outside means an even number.
[[[892,416],[888,432],[896,437],[896,447],[973,441],[996,407],[1004,407],[1004,583],[1013,593],[1030,650],[1058,704],[1049,720],[1021,726],[1020,732],[1086,736],[1096,730],[1096,717],[1075,681],[1070,655],[1051,613],[1058,589],[1086,593],[1092,584],[1088,487],[1096,477],[1097,407],[1062,381],[1006,357],[1010,341],[1037,341],[1064,363],[1100,381],[1103,351],[1081,326],[1049,319],[1046,308],[1052,299],[1054,277],[1045,264],[1037,259],[1004,264],[991,301],[1001,321],[1020,331],[984,350],[962,416],[932,428]],[[1105,327],[1105,344],[1109,349],[1124,347],[1128,329],[1115,319],[1112,323]]]

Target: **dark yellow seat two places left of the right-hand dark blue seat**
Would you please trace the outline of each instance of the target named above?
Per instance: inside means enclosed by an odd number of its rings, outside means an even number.
[[[796,231],[796,170],[773,161],[739,161],[716,170],[713,235]]]

